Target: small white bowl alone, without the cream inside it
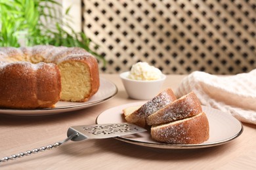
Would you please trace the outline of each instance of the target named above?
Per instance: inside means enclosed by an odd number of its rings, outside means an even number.
[[[129,97],[139,100],[152,99],[160,93],[161,86],[166,78],[161,75],[158,80],[132,80],[128,78],[129,71],[121,73],[120,78]]]

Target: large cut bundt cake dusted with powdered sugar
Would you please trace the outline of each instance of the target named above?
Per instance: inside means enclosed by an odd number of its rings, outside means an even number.
[[[0,48],[0,107],[35,109],[87,101],[99,88],[98,62],[83,48]]]

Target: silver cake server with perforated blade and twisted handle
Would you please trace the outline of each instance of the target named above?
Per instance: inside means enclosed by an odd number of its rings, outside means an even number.
[[[20,152],[19,154],[14,154],[9,157],[6,156],[0,160],[0,163],[6,162],[9,160],[15,160],[16,158],[22,158],[23,156],[30,156],[31,154],[36,154],[37,152],[50,150],[68,141],[83,141],[87,139],[106,139],[110,137],[119,137],[123,135],[140,133],[142,131],[146,131],[146,129],[136,126],[134,124],[129,124],[129,123],[72,126],[68,128],[68,132],[67,132],[68,137],[64,141],[57,142],[54,144],[49,144],[48,146],[43,146],[41,148],[28,150],[26,152]]]

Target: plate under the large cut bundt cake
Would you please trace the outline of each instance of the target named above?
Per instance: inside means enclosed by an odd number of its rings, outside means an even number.
[[[98,105],[108,99],[114,97],[117,93],[117,87],[114,83],[100,78],[100,88],[98,92],[86,102],[68,102],[68,101],[58,101],[56,107],[47,109],[33,109],[33,110],[18,110],[18,109],[0,109],[0,114],[12,114],[21,116],[39,116],[39,115],[49,115],[56,114],[60,112],[69,112],[79,109],[85,109],[94,105]]]

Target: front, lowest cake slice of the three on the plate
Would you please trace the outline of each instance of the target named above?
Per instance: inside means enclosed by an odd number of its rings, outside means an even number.
[[[204,112],[191,118],[151,127],[152,139],[171,144],[199,144],[209,139],[209,122]]]

